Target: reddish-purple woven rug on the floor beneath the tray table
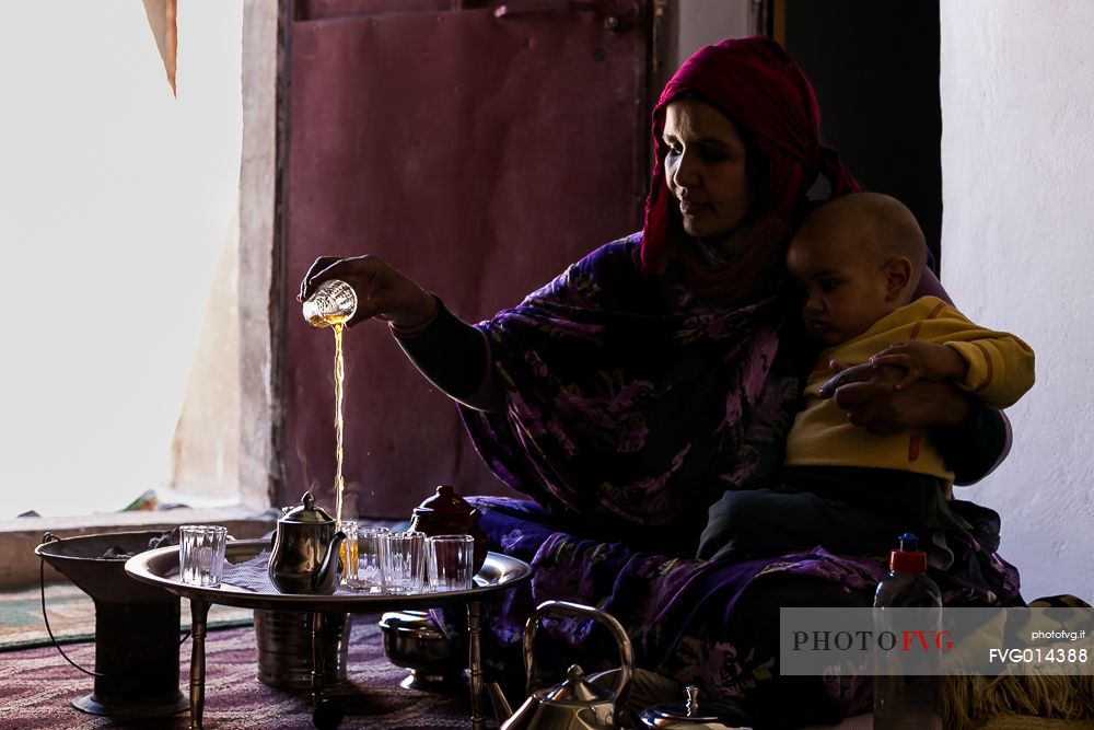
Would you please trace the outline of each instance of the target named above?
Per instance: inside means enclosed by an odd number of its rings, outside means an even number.
[[[341,728],[411,730],[467,728],[470,703],[466,685],[453,694],[405,690],[407,675],[384,656],[379,616],[353,617],[347,679],[330,690],[346,712]],[[93,642],[72,644],[67,653],[83,667],[94,665]],[[210,631],[206,639],[205,727],[208,730],[306,730],[312,703],[306,693],[275,690],[255,679],[257,650],[253,627]],[[179,650],[179,685],[186,691],[190,644]],[[91,693],[92,677],[72,669],[53,647],[0,654],[0,728],[20,730],[184,730],[189,714],[147,720],[112,720],[85,715],[72,699]],[[489,703],[487,703],[489,705]],[[496,727],[492,720],[488,727]]]

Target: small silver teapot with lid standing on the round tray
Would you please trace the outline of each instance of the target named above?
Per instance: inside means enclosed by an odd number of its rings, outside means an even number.
[[[302,501],[277,521],[270,582],[281,593],[329,595],[341,580],[339,551],[346,533],[315,506],[311,491],[304,493]]]

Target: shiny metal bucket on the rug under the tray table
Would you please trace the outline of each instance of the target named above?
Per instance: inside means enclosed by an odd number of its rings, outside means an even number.
[[[258,681],[280,690],[312,688],[312,622],[298,611],[255,611]],[[323,614],[323,686],[346,682],[352,614]]]

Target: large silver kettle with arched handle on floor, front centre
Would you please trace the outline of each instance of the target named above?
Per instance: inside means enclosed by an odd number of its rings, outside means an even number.
[[[547,614],[572,616],[575,618],[594,618],[607,626],[619,646],[619,670],[609,670],[616,674],[615,686],[605,690],[592,684],[600,674],[585,679],[584,672],[577,664],[570,667],[567,680],[554,687],[536,688],[539,684],[539,668],[535,661],[535,635],[539,621]],[[489,686],[494,709],[501,718],[501,730],[614,730],[619,727],[616,712],[616,702],[622,695],[630,675],[635,671],[635,653],[630,639],[619,622],[613,616],[580,603],[567,601],[546,601],[528,617],[524,627],[524,670],[528,677],[527,699],[513,712],[498,684]]]

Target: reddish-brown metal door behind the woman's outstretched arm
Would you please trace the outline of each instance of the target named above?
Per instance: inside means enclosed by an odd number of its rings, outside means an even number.
[[[334,338],[294,300],[321,254],[375,254],[470,322],[641,225],[645,0],[312,0],[287,77],[284,501],[334,505]],[[345,514],[439,484],[505,494],[455,407],[376,322],[346,336]]]

